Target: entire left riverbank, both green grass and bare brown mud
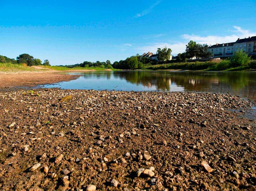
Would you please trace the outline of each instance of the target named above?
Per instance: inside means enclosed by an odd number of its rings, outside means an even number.
[[[1,65],[2,66],[2,65]],[[60,74],[60,72],[89,72],[89,71],[111,71],[99,67],[93,68],[66,68],[66,67],[45,67],[45,66],[23,66],[21,64],[4,64],[0,67],[0,90],[14,87],[34,87],[70,81],[79,77],[79,75]]]

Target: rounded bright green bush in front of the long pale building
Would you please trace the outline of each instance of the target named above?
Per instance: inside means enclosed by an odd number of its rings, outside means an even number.
[[[232,68],[239,66],[248,66],[251,57],[249,57],[243,50],[235,52],[230,58],[230,66]]]

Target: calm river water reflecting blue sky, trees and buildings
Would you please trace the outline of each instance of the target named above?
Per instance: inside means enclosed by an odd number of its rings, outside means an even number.
[[[123,91],[200,91],[256,99],[255,72],[103,71],[70,73],[80,78],[46,87]]]

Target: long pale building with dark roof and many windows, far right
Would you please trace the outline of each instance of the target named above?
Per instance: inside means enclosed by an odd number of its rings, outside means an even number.
[[[256,36],[237,39],[236,42],[210,45],[208,51],[212,53],[212,58],[230,57],[236,51],[243,50],[249,56],[256,55]]]

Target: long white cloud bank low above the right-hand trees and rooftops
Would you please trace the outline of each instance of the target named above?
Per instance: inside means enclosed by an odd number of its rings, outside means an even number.
[[[228,43],[228,42],[236,42],[238,38],[244,38],[248,36],[256,36],[256,33],[252,33],[249,30],[243,30],[241,27],[233,26],[236,30],[231,31],[236,34],[226,35],[226,36],[200,36],[195,34],[183,34],[181,35],[182,41],[178,43],[152,43],[146,46],[136,48],[140,53],[144,52],[153,52],[155,53],[157,48],[168,47],[172,49],[172,55],[176,55],[178,53],[183,53],[186,49],[186,44],[190,41],[196,41],[200,44],[208,44],[213,45],[216,43]]]

